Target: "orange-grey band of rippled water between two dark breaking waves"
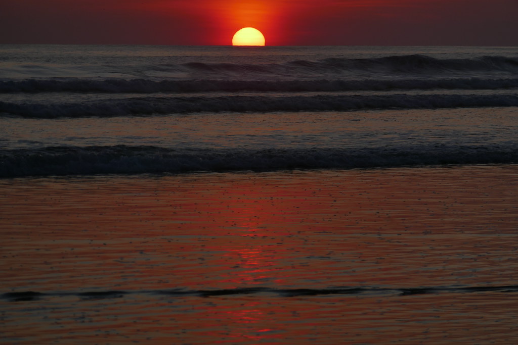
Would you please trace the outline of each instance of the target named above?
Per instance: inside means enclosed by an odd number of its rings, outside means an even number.
[[[198,113],[150,117],[2,119],[0,147],[154,145],[246,148],[412,148],[514,145],[518,108]]]

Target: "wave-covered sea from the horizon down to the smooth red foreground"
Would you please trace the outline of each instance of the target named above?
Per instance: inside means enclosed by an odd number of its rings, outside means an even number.
[[[516,159],[514,48],[0,52],[3,177]]]

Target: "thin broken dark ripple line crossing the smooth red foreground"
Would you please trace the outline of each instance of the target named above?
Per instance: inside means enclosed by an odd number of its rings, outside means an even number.
[[[280,297],[296,297],[296,296],[316,296],[316,295],[416,295],[428,293],[473,293],[473,292],[502,292],[516,293],[518,286],[472,286],[472,287],[415,287],[415,288],[369,288],[369,287],[336,287],[325,289],[275,289],[266,287],[256,288],[235,288],[235,289],[211,289],[211,290],[185,290],[185,289],[169,289],[169,290],[147,290],[147,291],[90,291],[90,292],[54,292],[43,293],[36,291],[7,292],[0,295],[0,299],[6,299],[10,302],[28,302],[37,301],[42,298],[75,296],[83,300],[90,299],[107,299],[120,298],[131,294],[147,294],[147,295],[165,295],[170,297],[182,296],[231,296],[245,294],[274,294]]]

